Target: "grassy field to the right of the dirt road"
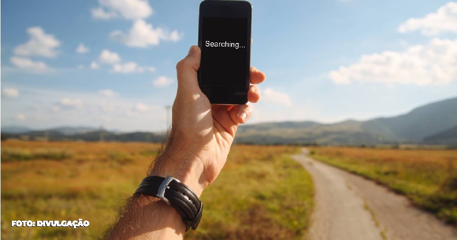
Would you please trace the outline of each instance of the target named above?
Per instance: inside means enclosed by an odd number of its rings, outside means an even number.
[[[318,147],[311,154],[388,186],[457,226],[457,150]]]

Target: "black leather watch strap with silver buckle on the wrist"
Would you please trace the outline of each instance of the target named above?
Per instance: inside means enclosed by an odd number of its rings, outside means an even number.
[[[195,230],[200,223],[203,204],[197,194],[186,184],[170,176],[149,176],[143,179],[135,194],[155,196],[171,205],[183,217],[186,231]]]

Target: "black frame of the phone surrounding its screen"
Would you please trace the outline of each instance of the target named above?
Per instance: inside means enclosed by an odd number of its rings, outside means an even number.
[[[215,1],[206,0],[200,3],[198,18],[198,47],[202,48],[202,20],[203,17],[228,17],[248,18],[247,39],[247,76],[244,87],[220,87],[200,85],[200,68],[197,71],[198,85],[211,104],[242,105],[248,102],[251,67],[251,31],[252,31],[252,6],[247,1]]]

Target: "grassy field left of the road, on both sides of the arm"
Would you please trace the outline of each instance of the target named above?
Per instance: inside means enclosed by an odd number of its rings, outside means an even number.
[[[95,239],[146,175],[158,145],[6,141],[1,145],[2,239]],[[186,239],[302,239],[312,209],[295,147],[236,146],[201,200]],[[11,227],[12,220],[78,220],[87,228]]]

